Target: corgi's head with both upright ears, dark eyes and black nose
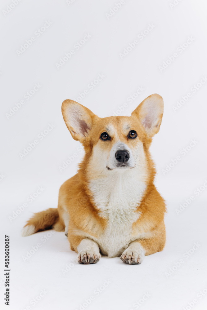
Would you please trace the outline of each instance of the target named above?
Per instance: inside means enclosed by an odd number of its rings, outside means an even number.
[[[72,137],[83,144],[94,172],[105,168],[123,172],[143,164],[144,150],[160,129],[163,106],[162,97],[153,94],[130,117],[100,118],[83,105],[65,100],[62,114]]]

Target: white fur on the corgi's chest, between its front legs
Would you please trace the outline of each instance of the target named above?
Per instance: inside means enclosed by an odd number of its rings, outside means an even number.
[[[144,175],[130,169],[111,171],[105,178],[90,183],[99,215],[108,224],[98,240],[101,252],[109,257],[122,254],[132,237],[132,224],[139,218],[137,210],[146,190]]]

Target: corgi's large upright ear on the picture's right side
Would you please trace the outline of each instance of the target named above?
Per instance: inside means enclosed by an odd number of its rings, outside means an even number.
[[[132,112],[142,123],[149,137],[158,133],[162,122],[164,102],[160,95],[153,94],[142,101]]]

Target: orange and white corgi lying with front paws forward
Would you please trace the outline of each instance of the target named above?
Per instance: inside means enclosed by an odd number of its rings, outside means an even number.
[[[85,155],[78,173],[61,186],[58,207],[34,214],[22,235],[65,231],[81,264],[97,263],[101,255],[141,264],[145,255],[162,251],[166,207],[153,184],[149,147],[163,108],[162,97],[153,94],[129,117],[100,118],[65,100],[65,124]]]

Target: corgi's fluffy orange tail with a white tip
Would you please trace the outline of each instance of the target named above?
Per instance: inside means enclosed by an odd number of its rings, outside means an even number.
[[[35,213],[22,230],[22,236],[26,237],[35,232],[43,231],[52,228],[59,219],[57,209],[50,208],[45,211]]]

